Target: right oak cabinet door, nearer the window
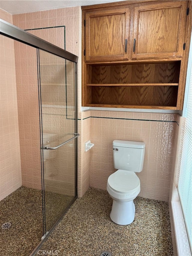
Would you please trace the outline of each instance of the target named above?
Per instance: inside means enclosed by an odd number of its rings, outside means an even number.
[[[132,59],[182,56],[187,1],[135,8]]]

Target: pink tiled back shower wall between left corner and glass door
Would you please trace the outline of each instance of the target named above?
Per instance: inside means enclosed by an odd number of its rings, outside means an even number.
[[[41,189],[37,53],[18,41],[14,49],[22,185]]]

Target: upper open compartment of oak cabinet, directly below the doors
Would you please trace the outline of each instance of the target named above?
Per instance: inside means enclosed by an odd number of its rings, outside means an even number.
[[[87,84],[179,83],[181,61],[155,64],[87,65]]]

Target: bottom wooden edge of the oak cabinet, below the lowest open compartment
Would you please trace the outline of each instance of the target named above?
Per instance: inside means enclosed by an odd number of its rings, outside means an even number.
[[[138,108],[138,109],[167,109],[177,110],[174,106],[146,106],[146,105],[110,105],[110,104],[85,104],[83,107],[112,107],[112,108]]]

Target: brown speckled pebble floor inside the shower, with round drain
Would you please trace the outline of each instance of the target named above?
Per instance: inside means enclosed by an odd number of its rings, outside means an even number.
[[[46,192],[45,200],[46,225],[49,230],[72,197]],[[11,222],[12,226],[5,230],[0,228],[0,255],[29,255],[43,236],[41,191],[22,186],[1,200],[0,224],[4,222]]]

